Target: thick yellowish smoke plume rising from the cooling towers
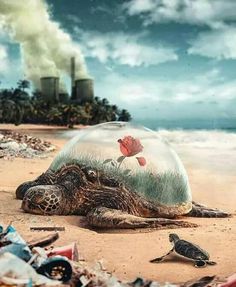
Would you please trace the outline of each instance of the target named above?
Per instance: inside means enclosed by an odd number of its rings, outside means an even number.
[[[36,88],[40,86],[40,77],[70,74],[73,56],[76,78],[87,75],[80,48],[50,19],[45,0],[1,0],[0,20],[11,38],[20,44],[25,75]]]

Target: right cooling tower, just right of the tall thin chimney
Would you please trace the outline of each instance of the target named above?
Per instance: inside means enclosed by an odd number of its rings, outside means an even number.
[[[75,94],[72,99],[79,104],[91,101],[93,99],[93,80],[92,79],[76,80]]]

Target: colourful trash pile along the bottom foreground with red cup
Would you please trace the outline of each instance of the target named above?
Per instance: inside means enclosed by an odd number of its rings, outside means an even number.
[[[0,225],[0,286],[65,286],[72,287],[235,287],[236,274],[226,280],[206,276],[182,284],[159,284],[137,278],[131,283],[119,281],[105,272],[101,264],[93,269],[80,260],[76,243],[55,248],[52,245],[58,233],[26,241],[16,229]]]

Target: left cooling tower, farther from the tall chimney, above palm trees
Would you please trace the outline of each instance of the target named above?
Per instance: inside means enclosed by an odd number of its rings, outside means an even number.
[[[41,92],[46,102],[56,103],[59,101],[59,78],[43,77],[41,80]]]

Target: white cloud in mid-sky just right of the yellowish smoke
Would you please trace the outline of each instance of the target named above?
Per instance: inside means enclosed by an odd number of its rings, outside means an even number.
[[[82,31],[75,28],[80,45],[86,57],[100,62],[114,61],[116,64],[135,66],[158,65],[175,61],[178,56],[172,47],[150,46],[142,39],[144,33],[131,35],[123,32],[102,34],[96,31]]]

